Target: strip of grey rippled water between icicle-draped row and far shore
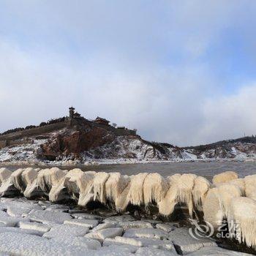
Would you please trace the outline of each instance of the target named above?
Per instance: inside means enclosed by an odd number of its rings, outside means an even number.
[[[1,166],[0,166],[1,167]],[[8,167],[10,170],[16,170],[22,166]],[[23,166],[24,167],[24,166]],[[28,167],[28,166],[26,166]],[[170,176],[174,173],[195,173],[199,176],[212,178],[217,173],[222,173],[226,170],[234,170],[242,178],[249,174],[256,173],[256,162],[160,162],[148,164],[127,164],[127,165],[90,165],[76,166],[81,170],[95,170],[105,172],[120,172],[121,174],[132,175],[136,173],[159,173],[162,176]],[[61,169],[70,170],[74,167],[63,167]]]

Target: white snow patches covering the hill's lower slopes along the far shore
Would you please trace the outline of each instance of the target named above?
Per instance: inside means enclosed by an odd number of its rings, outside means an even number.
[[[54,133],[50,134],[51,136]],[[113,143],[107,144],[91,151],[85,151],[80,154],[80,160],[71,160],[71,156],[60,158],[58,161],[47,161],[37,157],[41,150],[40,145],[47,140],[32,140],[32,143],[20,146],[8,146],[0,148],[0,164],[12,165],[113,165],[113,164],[134,164],[134,163],[157,163],[157,162],[211,162],[211,161],[247,161],[256,160],[255,144],[252,143],[234,143],[233,147],[222,152],[222,157],[215,158],[214,150],[203,151],[202,154],[196,154],[194,149],[165,148],[166,154],[162,154],[152,146],[143,143],[138,138],[129,140],[120,136]],[[219,150],[223,151],[223,150]],[[246,154],[244,153],[246,152]],[[97,158],[96,158],[97,156]],[[128,157],[133,156],[133,157]],[[224,157],[225,156],[225,157]]]

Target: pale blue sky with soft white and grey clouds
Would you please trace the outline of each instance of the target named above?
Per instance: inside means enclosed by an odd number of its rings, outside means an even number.
[[[108,118],[193,146],[256,134],[255,0],[0,0],[0,132]]]

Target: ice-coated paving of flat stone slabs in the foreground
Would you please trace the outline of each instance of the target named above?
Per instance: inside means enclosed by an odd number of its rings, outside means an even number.
[[[187,227],[130,215],[100,217],[48,201],[0,199],[0,255],[246,255],[196,240]]]

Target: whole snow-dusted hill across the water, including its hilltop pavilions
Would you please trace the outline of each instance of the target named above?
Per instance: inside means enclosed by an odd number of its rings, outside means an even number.
[[[187,161],[256,157],[256,138],[223,140],[179,148],[143,140],[135,130],[88,120],[69,109],[69,116],[17,128],[0,135],[0,162],[83,164],[85,162]]]

